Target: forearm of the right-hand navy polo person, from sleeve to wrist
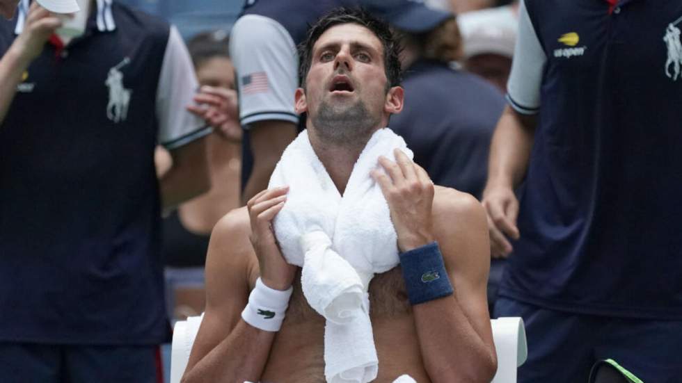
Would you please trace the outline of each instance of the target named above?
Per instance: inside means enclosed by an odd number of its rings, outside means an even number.
[[[518,186],[528,169],[534,125],[534,117],[505,108],[491,143],[488,186]]]

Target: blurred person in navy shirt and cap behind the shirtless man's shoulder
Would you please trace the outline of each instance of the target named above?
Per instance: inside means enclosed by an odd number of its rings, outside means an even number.
[[[415,163],[427,170],[434,184],[480,198],[490,140],[505,99],[493,85],[450,65],[461,58],[462,50],[452,13],[399,15],[387,19],[402,35],[405,103],[402,113],[391,116],[389,126],[405,139]],[[502,264],[491,263],[490,307]]]

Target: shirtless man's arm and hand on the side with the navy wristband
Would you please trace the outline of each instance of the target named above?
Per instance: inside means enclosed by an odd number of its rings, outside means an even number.
[[[434,199],[427,172],[398,150],[395,157],[396,163],[379,158],[388,176],[373,177],[390,207],[399,250],[438,239],[455,291],[413,305],[427,373],[433,382],[489,382],[497,366],[486,304],[490,256],[484,210],[474,197],[445,188]]]

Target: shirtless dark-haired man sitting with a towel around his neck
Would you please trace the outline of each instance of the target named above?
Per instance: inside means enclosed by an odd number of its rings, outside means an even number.
[[[372,133],[403,105],[397,47],[388,28],[357,11],[338,10],[312,27],[301,51],[296,112],[308,113],[310,142],[340,193]],[[351,91],[331,91],[346,76]],[[322,109],[328,108],[328,111]],[[358,108],[376,121],[354,119]],[[336,113],[324,118],[322,113]],[[367,117],[367,116],[365,116]],[[347,122],[339,131],[338,120]],[[335,131],[330,126],[336,122]],[[353,139],[349,139],[353,138]],[[470,195],[435,186],[401,153],[379,158],[373,174],[388,201],[400,252],[434,240],[454,294],[411,305],[400,266],[370,283],[370,318],[379,357],[376,382],[409,374],[425,382],[490,382],[496,360],[486,307],[489,239],[486,215]],[[390,177],[389,177],[390,176]],[[301,293],[301,272],[285,262],[271,221],[287,188],[264,190],[216,225],[207,256],[207,306],[183,382],[323,382],[324,323]],[[294,286],[278,332],[241,317],[260,277],[265,286]]]

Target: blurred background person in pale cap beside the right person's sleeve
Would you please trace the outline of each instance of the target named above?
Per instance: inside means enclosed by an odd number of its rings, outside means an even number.
[[[464,41],[464,69],[506,93],[518,28],[518,3],[464,13],[457,22]]]

